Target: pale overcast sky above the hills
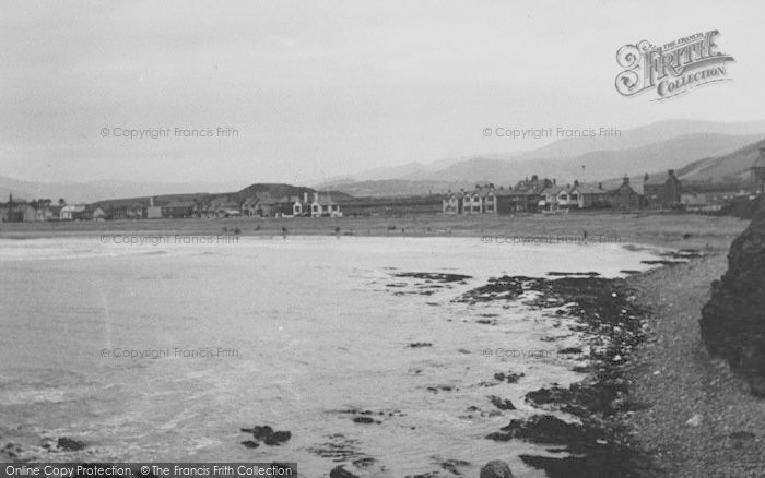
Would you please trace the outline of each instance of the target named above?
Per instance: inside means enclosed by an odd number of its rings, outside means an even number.
[[[754,0],[0,0],[0,176],[23,180],[309,184],[550,141],[484,128],[765,119]],[[735,58],[733,81],[666,101],[615,91],[621,46],[709,29]]]

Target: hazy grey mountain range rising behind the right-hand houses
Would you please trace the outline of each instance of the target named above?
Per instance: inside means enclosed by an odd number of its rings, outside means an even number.
[[[320,187],[331,186],[356,196],[380,196],[443,192],[486,182],[514,184],[532,175],[560,182],[597,181],[625,174],[642,177],[645,172],[680,169],[699,157],[726,155],[763,138],[765,121],[670,120],[624,130],[619,138],[564,139],[520,154],[483,154],[428,165],[377,168],[355,175],[356,179],[336,179]]]

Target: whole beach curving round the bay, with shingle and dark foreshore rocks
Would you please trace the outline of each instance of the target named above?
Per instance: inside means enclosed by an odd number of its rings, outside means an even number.
[[[711,280],[726,270],[730,242],[746,224],[731,217],[690,214],[570,214],[475,220],[144,220],[3,225],[0,237],[475,237],[476,241],[507,247],[513,247],[516,238],[544,238],[692,251],[687,259],[680,258],[683,261],[668,256],[669,265],[625,279],[503,277],[467,294],[464,301],[484,300],[486,294],[489,300],[501,300],[498,294],[531,290],[541,294],[541,309],[549,309],[550,302],[577,303],[565,314],[580,322],[591,345],[600,346],[596,347],[600,351],[590,357],[586,380],[570,387],[543,387],[528,393],[526,402],[538,408],[539,415],[526,421],[513,420],[486,438],[497,443],[526,440],[584,456],[521,456],[527,465],[542,468],[553,478],[591,476],[598,470],[628,471],[628,476],[760,476],[765,469],[765,449],[758,435],[765,425],[765,404],[748,395],[723,363],[707,356],[697,323]],[[497,298],[491,299],[492,294]],[[625,315],[632,320],[623,319]],[[509,382],[518,378],[498,380]],[[505,397],[495,398],[494,405],[499,409],[514,407]],[[545,415],[548,409],[572,414],[582,425],[567,426]]]

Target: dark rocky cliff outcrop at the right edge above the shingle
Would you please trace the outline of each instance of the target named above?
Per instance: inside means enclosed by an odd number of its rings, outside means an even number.
[[[765,198],[752,224],[730,247],[728,272],[713,284],[702,311],[702,338],[765,397]]]

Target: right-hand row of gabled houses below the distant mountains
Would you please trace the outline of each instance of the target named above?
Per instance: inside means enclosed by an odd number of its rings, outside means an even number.
[[[443,213],[457,214],[510,214],[517,212],[556,212],[561,210],[638,210],[676,208],[681,205],[682,187],[674,170],[649,177],[642,184],[631,184],[624,177],[615,188],[604,189],[602,183],[557,184],[555,180],[531,179],[519,181],[515,188],[495,188],[494,184],[476,186],[472,191],[446,194]]]

